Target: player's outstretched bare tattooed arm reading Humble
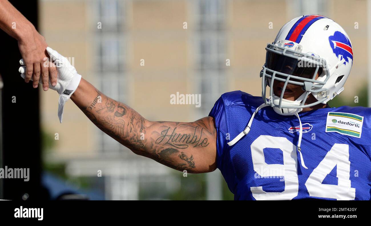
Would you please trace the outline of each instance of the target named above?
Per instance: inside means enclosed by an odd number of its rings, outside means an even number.
[[[99,129],[135,154],[179,171],[205,173],[216,169],[212,117],[195,122],[151,122],[106,97],[83,78],[71,99]]]

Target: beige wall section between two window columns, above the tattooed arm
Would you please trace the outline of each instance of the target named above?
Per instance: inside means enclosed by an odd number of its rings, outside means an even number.
[[[194,120],[194,106],[170,105],[170,94],[189,93],[185,1],[133,1],[128,56],[134,95],[131,107],[150,120]],[[140,66],[140,60],[145,66]]]

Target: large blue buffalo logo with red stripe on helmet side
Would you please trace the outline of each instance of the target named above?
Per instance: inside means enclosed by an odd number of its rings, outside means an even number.
[[[340,31],[335,31],[333,36],[328,37],[330,46],[336,57],[345,59],[344,64],[349,63],[349,59],[353,61],[352,44],[347,36]]]

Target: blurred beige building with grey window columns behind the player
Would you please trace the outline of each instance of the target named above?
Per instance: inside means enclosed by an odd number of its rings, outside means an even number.
[[[342,4],[344,3],[344,4]],[[40,33],[83,78],[149,120],[195,121],[227,91],[261,95],[265,47],[290,19],[322,14],[351,37],[355,62],[342,95],[367,81],[366,7],[345,0],[40,0]],[[347,16],[344,16],[347,12]],[[351,18],[351,19],[350,19]],[[186,24],[185,24],[186,22]],[[359,24],[359,29],[355,28]],[[101,26],[101,29],[100,29]],[[185,26],[187,29],[185,29]],[[144,60],[144,66],[141,66]],[[230,65],[226,63],[230,62]],[[139,199],[140,189],[179,189],[182,172],[137,156],[101,132],[72,101],[63,124],[58,94],[42,92],[44,131],[59,140],[47,162],[72,176],[97,177],[106,199]],[[201,94],[201,107],[171,105],[170,95]],[[207,198],[221,198],[219,170],[207,174]],[[157,198],[157,197],[155,197]]]

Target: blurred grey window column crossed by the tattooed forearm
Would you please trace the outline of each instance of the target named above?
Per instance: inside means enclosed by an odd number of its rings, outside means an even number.
[[[96,0],[96,18],[101,29],[95,29],[95,71],[100,80],[99,90],[112,99],[126,101],[125,88],[125,1]],[[119,153],[125,147],[99,131],[100,150]]]

